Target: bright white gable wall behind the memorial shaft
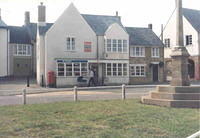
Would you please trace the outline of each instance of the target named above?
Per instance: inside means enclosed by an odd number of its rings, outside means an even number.
[[[192,27],[192,25],[187,21],[187,19],[183,16],[183,29],[184,29],[184,44],[185,44],[185,36],[192,35],[193,44],[186,46],[189,54],[191,56],[199,55],[199,45],[198,45],[198,33]],[[171,41],[171,48],[165,48],[165,58],[171,58],[171,51],[174,46],[176,46],[176,14],[173,14],[172,18],[170,19],[169,23],[167,24],[164,33],[163,33],[164,40],[166,38],[170,38]]]

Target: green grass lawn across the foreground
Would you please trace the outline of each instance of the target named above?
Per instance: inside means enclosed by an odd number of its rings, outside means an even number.
[[[0,137],[184,138],[200,129],[198,109],[139,100],[0,107]]]

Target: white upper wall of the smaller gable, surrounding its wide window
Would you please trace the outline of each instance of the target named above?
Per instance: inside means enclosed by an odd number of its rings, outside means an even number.
[[[105,39],[125,39],[127,40],[127,53],[106,53],[105,59],[129,59],[129,35],[117,23],[112,24],[105,32]]]

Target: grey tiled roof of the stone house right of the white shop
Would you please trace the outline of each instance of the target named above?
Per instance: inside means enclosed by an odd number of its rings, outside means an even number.
[[[149,28],[126,27],[130,46],[163,46],[162,41]]]

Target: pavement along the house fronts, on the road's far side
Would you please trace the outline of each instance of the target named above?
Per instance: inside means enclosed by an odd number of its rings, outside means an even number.
[[[129,88],[152,88],[156,85],[129,85]],[[12,96],[22,94],[26,89],[28,94],[35,93],[49,93],[49,92],[62,92],[73,91],[73,88],[45,88],[36,84],[35,80],[30,80],[30,87],[26,87],[25,79],[12,79],[12,80],[0,80],[0,96]],[[119,89],[121,86],[103,86],[103,87],[79,87],[79,90],[105,90],[105,89]]]

